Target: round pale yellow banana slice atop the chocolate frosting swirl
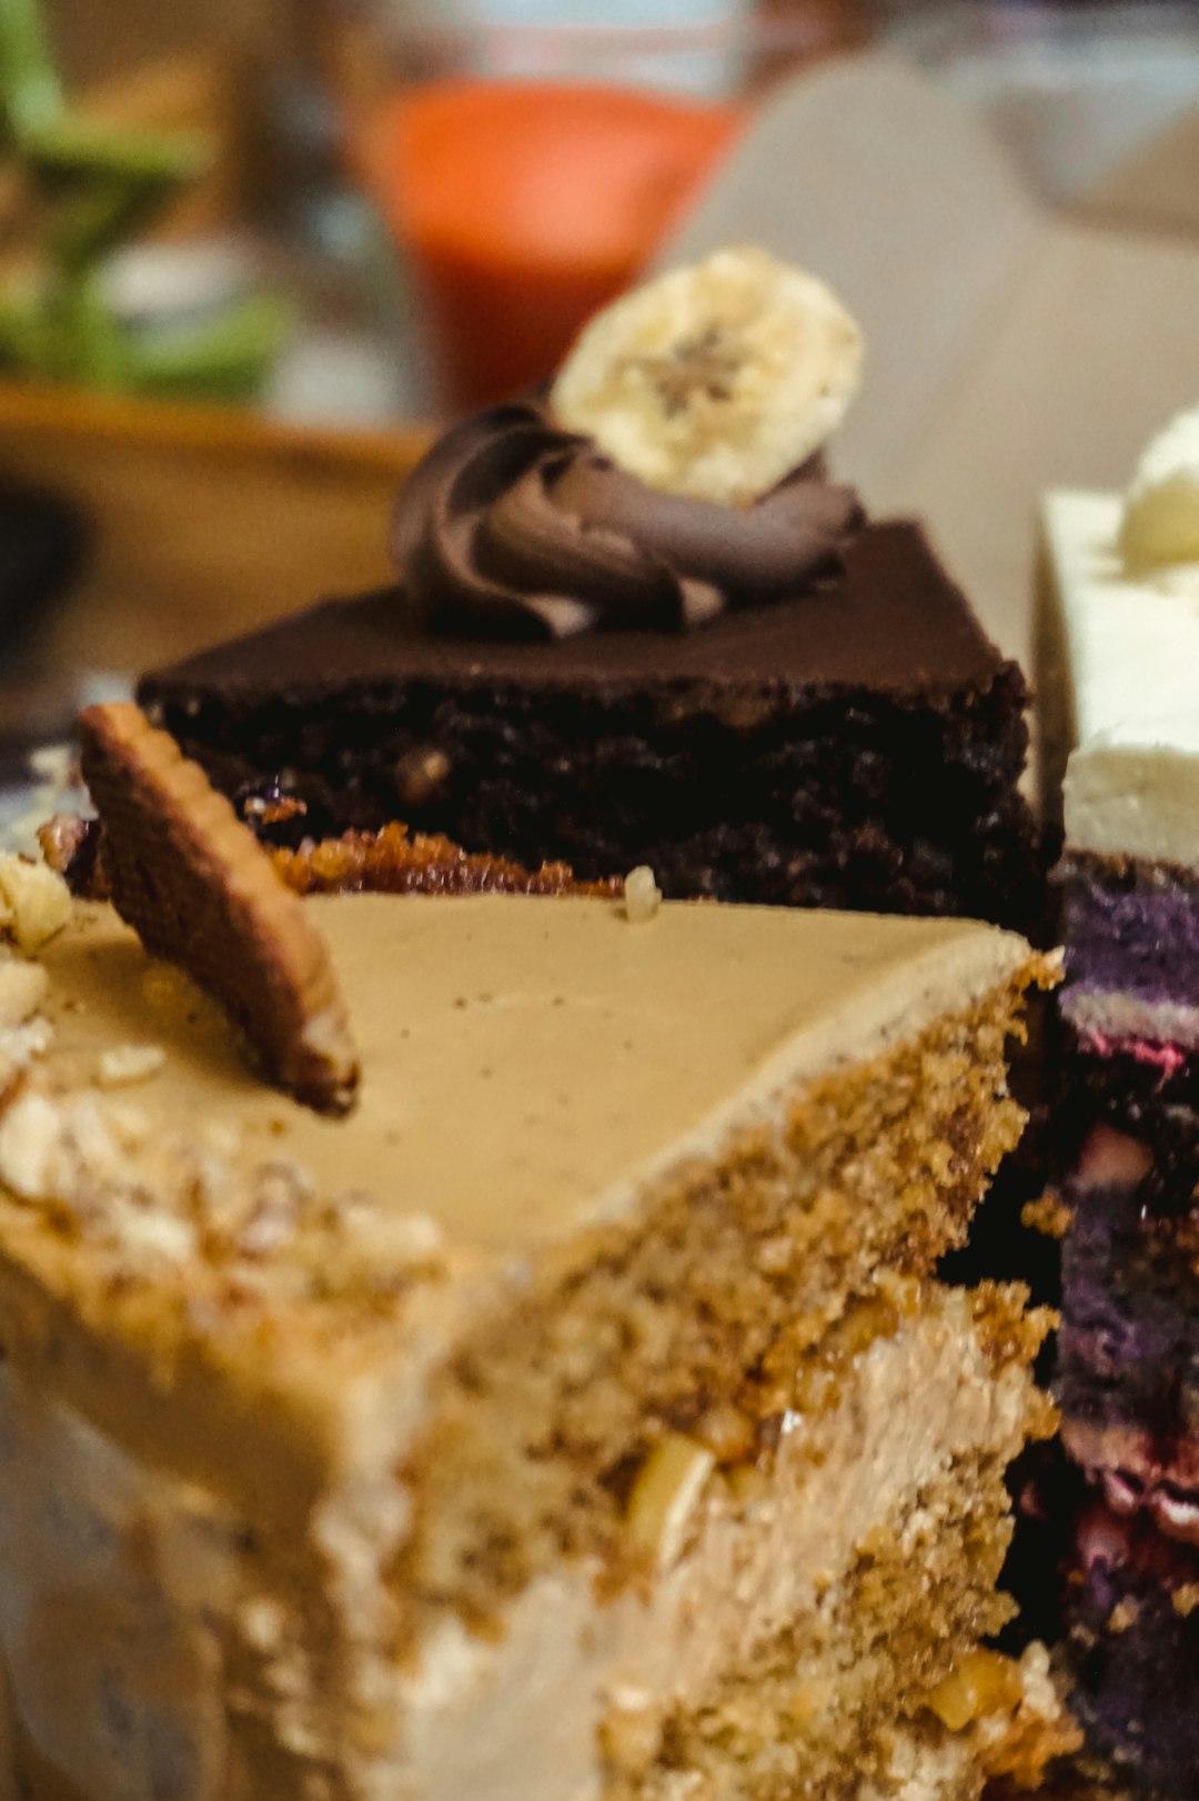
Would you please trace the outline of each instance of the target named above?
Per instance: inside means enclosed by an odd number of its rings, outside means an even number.
[[[598,313],[549,407],[650,488],[744,506],[819,450],[861,367],[862,333],[823,281],[727,249]]]

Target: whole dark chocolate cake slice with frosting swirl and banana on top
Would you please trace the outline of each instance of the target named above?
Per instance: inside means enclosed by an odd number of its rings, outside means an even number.
[[[616,303],[547,393],[400,495],[400,584],[144,677],[266,841],[401,821],[668,897],[1028,926],[1028,693],[911,520],[825,445],[861,335],[724,250]]]

